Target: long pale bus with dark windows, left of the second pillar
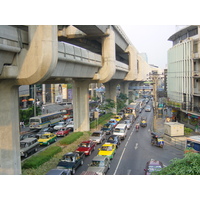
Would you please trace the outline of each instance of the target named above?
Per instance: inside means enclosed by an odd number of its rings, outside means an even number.
[[[29,119],[29,128],[31,130],[40,130],[50,125],[55,125],[58,122],[62,121],[62,119],[63,117],[61,112],[55,112],[45,115],[39,115],[36,117],[31,117]]]

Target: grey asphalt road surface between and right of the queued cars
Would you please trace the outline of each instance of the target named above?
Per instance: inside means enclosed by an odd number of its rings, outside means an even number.
[[[143,115],[147,116],[147,127],[140,127],[139,131],[136,132],[136,122],[133,123],[128,131],[127,137],[117,149],[107,175],[144,175],[145,165],[150,159],[159,160],[167,166],[173,158],[183,157],[183,151],[170,146],[166,142],[163,148],[151,145],[150,128],[153,121],[153,112],[145,112],[143,110],[138,120]],[[76,175],[87,170],[88,164],[97,155],[98,148],[100,147],[100,144],[97,145],[95,151],[85,158],[83,166],[77,169]]]

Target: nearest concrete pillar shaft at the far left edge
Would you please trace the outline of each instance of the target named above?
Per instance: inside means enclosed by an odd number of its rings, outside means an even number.
[[[12,81],[0,81],[0,174],[21,174],[19,94]]]

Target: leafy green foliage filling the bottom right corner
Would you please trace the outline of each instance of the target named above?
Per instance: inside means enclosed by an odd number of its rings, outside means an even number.
[[[154,175],[200,175],[200,154],[188,152],[184,158],[175,158],[171,164]]]

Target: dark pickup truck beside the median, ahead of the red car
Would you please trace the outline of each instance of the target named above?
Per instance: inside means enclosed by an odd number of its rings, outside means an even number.
[[[84,152],[69,152],[60,159],[57,169],[70,169],[71,174],[75,174],[76,169],[83,165],[84,158]]]

